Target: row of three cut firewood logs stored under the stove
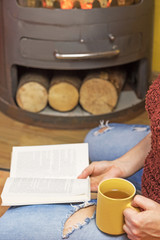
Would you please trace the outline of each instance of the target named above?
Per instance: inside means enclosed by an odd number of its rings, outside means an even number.
[[[57,74],[49,82],[42,73],[30,72],[20,78],[16,101],[20,108],[40,112],[47,104],[56,111],[68,112],[78,104],[93,115],[114,110],[124,86],[126,72],[92,72],[82,81],[77,75]]]

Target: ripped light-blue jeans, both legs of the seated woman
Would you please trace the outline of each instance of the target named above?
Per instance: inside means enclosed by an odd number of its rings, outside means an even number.
[[[104,124],[86,136],[91,161],[113,160],[136,145],[150,131],[146,125]],[[130,178],[140,190],[142,170]],[[96,205],[96,200],[77,204],[48,204],[11,207],[0,218],[0,240],[127,240],[125,234],[110,236],[95,223],[95,210],[82,222],[64,231],[65,223],[80,210]],[[70,224],[70,223],[69,223]]]

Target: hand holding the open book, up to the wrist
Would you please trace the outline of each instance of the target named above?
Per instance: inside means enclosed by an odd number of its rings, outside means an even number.
[[[87,178],[90,176],[91,191],[97,191],[99,183],[107,178],[123,177],[123,167],[120,167],[118,161],[100,161],[92,162],[78,178]]]

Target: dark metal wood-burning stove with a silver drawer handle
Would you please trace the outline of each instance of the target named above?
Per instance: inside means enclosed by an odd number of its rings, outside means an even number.
[[[28,124],[56,128],[94,127],[101,119],[123,121],[142,111],[151,75],[153,1],[92,9],[23,7],[0,1],[0,109]],[[129,69],[141,102],[121,112],[98,116],[31,113],[15,101],[22,69]],[[72,123],[72,124],[71,124]]]

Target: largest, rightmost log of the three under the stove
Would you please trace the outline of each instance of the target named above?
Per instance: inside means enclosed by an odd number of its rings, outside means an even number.
[[[80,88],[80,104],[94,115],[112,112],[117,105],[125,74],[115,71],[89,74]]]

